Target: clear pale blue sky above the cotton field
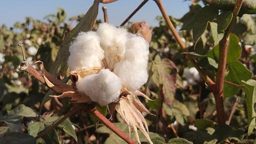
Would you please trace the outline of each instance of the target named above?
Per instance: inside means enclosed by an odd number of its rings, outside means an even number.
[[[103,18],[102,6],[107,7],[110,23],[118,26],[142,2],[142,0],[118,0],[110,4],[100,4],[98,19]],[[189,11],[190,1],[162,0],[167,13],[180,18]],[[0,25],[8,27],[15,22],[24,22],[26,16],[43,20],[46,14],[56,14],[57,7],[67,12],[67,18],[85,14],[93,0],[0,0]],[[145,20],[149,26],[157,26],[156,16],[161,15],[153,0],[149,0],[131,21]]]

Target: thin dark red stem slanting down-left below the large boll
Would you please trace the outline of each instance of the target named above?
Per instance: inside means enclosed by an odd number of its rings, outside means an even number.
[[[56,126],[58,126],[60,123],[62,123],[64,120],[66,120],[67,118],[69,118],[72,114],[74,114],[76,111],[78,111],[80,109],[80,105],[74,107],[72,110],[70,110],[67,114],[65,114],[65,116],[63,118],[61,118],[58,122],[56,122],[54,125],[48,127],[46,130],[44,130],[43,132],[41,132],[40,134],[38,134],[36,136],[36,139],[41,138],[42,136],[44,136],[45,134],[47,134],[48,132],[50,132],[51,130],[53,130],[54,128],[56,128]]]

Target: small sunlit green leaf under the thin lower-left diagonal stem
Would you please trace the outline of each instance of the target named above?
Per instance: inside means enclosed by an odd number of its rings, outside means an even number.
[[[60,120],[63,117],[64,116],[60,116],[60,118],[58,120]],[[60,123],[58,125],[58,127],[62,128],[64,130],[64,132],[66,132],[67,134],[72,136],[76,140],[76,142],[77,142],[76,132],[75,132],[75,130],[74,130],[74,128],[72,126],[72,123],[70,122],[69,118],[64,120],[62,123]]]

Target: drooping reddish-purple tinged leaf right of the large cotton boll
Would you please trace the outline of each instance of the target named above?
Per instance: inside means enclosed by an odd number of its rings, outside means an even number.
[[[172,106],[175,94],[175,84],[177,77],[177,69],[174,63],[167,58],[160,60],[155,64],[158,75],[159,84],[162,84],[164,94],[164,103]]]

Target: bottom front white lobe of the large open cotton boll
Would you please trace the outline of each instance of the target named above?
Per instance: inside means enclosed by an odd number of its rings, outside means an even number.
[[[109,69],[102,69],[100,73],[88,75],[76,82],[76,88],[92,101],[105,106],[118,100],[122,82]]]

